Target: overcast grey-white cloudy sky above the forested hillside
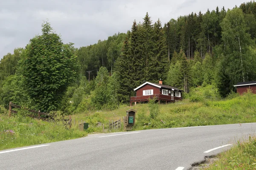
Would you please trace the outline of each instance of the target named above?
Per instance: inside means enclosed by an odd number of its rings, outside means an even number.
[[[24,48],[29,39],[41,34],[49,19],[62,40],[87,46],[127,32],[134,21],[142,22],[146,12],[155,22],[191,12],[205,13],[219,6],[233,8],[244,0],[0,0],[0,58],[14,48]]]

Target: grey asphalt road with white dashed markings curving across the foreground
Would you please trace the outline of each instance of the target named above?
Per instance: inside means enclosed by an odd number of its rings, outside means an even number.
[[[0,150],[0,170],[186,170],[255,131],[248,123],[89,135]]]

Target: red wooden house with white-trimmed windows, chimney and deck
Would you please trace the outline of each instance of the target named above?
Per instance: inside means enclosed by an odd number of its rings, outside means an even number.
[[[130,105],[134,102],[145,102],[148,99],[156,99],[160,101],[175,102],[176,100],[182,100],[182,92],[178,88],[163,85],[163,81],[160,79],[159,84],[152,82],[145,82],[139,87],[135,88],[136,96],[130,97]]]

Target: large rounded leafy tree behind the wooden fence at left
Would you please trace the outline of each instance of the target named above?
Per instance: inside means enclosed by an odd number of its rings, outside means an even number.
[[[42,35],[26,46],[20,60],[20,73],[31,99],[41,111],[57,110],[68,85],[77,75],[73,44],[64,44],[48,22]]]

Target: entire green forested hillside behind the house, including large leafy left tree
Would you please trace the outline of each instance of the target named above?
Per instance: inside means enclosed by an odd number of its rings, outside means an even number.
[[[114,109],[128,103],[134,88],[158,79],[185,93],[213,85],[226,97],[237,82],[256,80],[255,40],[254,1],[164,25],[146,13],[127,33],[81,48],[63,44],[46,22],[42,35],[1,59],[0,105],[66,113]]]

